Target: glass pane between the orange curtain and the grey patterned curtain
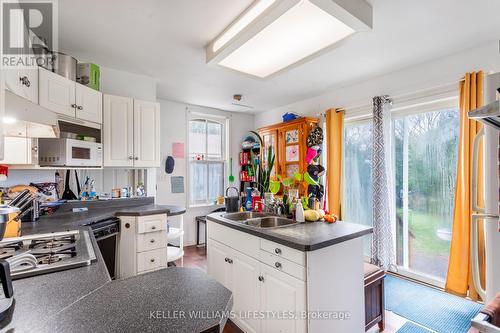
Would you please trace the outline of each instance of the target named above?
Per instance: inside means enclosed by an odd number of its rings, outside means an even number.
[[[344,181],[342,219],[372,226],[372,122],[346,123],[344,127]],[[364,240],[370,255],[371,237]]]

